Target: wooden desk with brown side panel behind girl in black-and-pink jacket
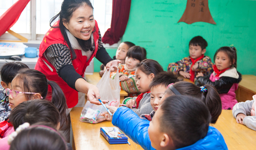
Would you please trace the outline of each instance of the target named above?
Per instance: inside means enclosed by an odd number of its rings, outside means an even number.
[[[252,100],[252,96],[256,94],[256,76],[242,75],[242,81],[236,90],[236,99],[238,102]]]

